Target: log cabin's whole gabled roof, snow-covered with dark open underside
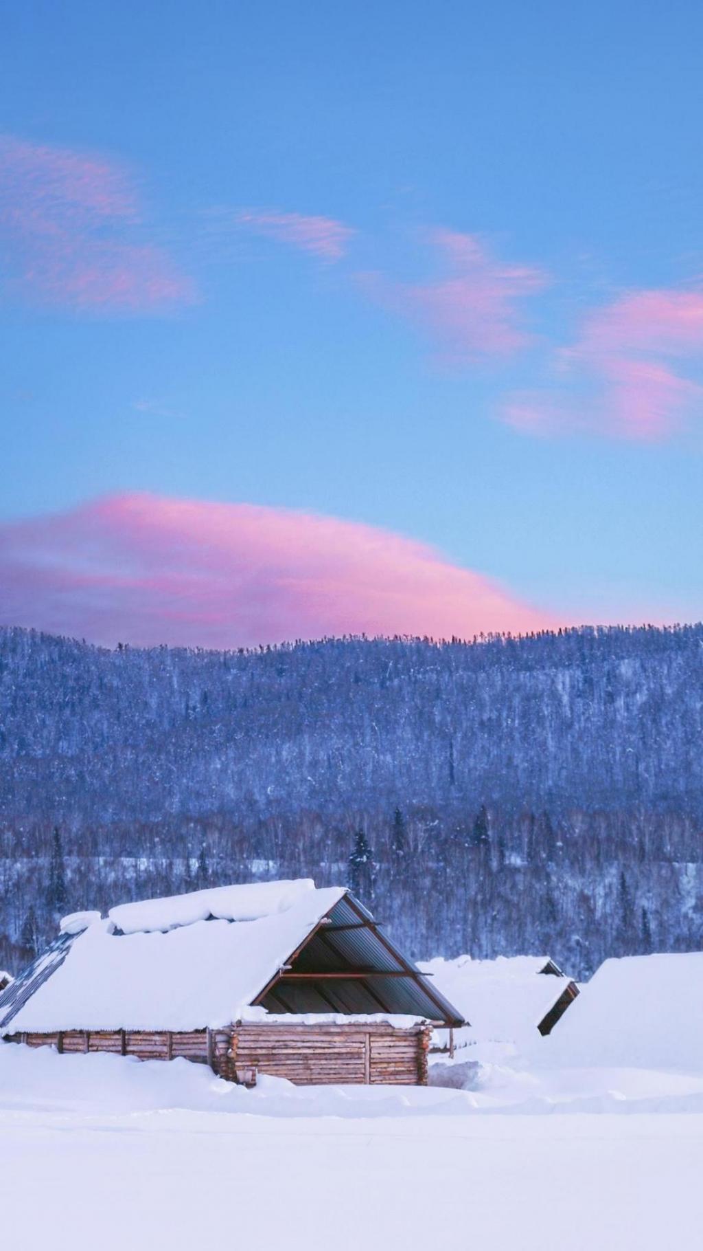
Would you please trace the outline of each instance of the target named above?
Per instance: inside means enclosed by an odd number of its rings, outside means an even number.
[[[462,1020],[345,887],[305,879],[72,914],[0,993],[0,1033],[215,1028],[257,1003]]]

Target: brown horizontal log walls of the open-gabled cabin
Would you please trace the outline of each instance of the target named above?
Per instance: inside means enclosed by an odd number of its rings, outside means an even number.
[[[107,1051],[139,1060],[176,1060],[210,1065],[226,1081],[245,1081],[252,1071],[286,1077],[296,1086],[427,1085],[430,1027],[397,1030],[385,1022],[350,1025],[237,1025],[187,1032],[65,1030],[15,1033],[6,1042],[54,1046],[61,1053]]]

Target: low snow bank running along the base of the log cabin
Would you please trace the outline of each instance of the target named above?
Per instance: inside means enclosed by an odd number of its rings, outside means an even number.
[[[446,1066],[447,1086],[293,1086],[260,1076],[253,1090],[216,1077],[206,1065],[0,1042],[2,1112],[125,1113],[172,1111],[260,1117],[473,1117],[504,1115],[703,1113],[703,1075],[633,1068],[518,1071],[498,1065]],[[467,1073],[462,1075],[461,1068]],[[471,1076],[469,1076],[471,1073]],[[465,1081],[460,1082],[460,1077]],[[215,1128],[215,1125],[212,1126]]]

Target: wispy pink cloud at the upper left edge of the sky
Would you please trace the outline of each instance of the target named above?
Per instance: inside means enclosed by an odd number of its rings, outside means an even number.
[[[110,161],[0,135],[0,264],[17,298],[151,313],[192,286],[144,238],[135,189]]]

